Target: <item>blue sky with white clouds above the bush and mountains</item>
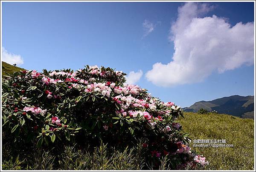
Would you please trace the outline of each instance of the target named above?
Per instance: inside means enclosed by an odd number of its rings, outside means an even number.
[[[9,58],[21,59],[17,66],[25,69],[80,69],[89,64],[127,74],[141,70],[137,85],[182,107],[254,95],[253,43],[241,42],[254,37],[253,23],[248,23],[254,21],[253,3],[2,5],[2,47]],[[204,47],[212,40],[222,46]],[[175,47],[182,51],[174,54]],[[190,54],[189,60],[184,54]],[[155,63],[159,65],[152,67]]]

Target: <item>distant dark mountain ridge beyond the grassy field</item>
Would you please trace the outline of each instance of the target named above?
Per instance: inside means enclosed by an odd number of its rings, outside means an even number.
[[[192,106],[183,108],[185,112],[198,112],[199,109],[218,111],[218,113],[229,114],[241,118],[254,118],[254,96],[233,95],[222,97],[212,101],[199,101]]]

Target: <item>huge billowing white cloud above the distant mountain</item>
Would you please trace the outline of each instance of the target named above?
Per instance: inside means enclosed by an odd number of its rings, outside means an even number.
[[[185,3],[171,27],[175,52],[168,64],[155,63],[146,78],[157,86],[203,81],[219,73],[253,65],[253,23],[231,26],[223,17],[201,17],[213,7],[205,3]]]

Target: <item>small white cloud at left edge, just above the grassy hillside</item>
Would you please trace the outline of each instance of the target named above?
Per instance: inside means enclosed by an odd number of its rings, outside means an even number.
[[[24,63],[23,58],[20,55],[9,53],[4,47],[2,47],[2,55],[3,55],[2,60],[11,65],[13,64],[21,65]]]

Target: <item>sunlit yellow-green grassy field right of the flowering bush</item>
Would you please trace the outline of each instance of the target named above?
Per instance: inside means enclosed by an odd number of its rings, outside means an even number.
[[[254,129],[252,119],[224,114],[186,112],[180,119],[183,130],[190,134],[191,147],[206,156],[210,168],[217,170],[253,170]],[[234,147],[193,147],[194,139],[225,139]]]

